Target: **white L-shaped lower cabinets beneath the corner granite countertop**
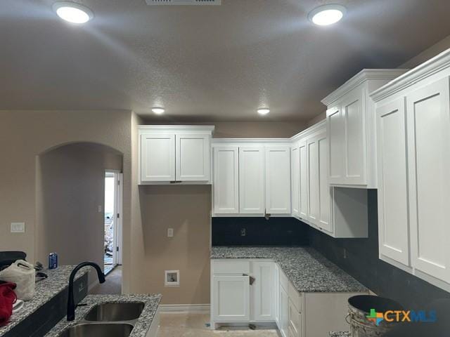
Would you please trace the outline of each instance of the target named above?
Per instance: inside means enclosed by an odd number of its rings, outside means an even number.
[[[270,260],[211,260],[211,326],[275,323],[283,337],[349,331],[347,299],[361,293],[299,293]],[[323,313],[326,312],[326,319]]]

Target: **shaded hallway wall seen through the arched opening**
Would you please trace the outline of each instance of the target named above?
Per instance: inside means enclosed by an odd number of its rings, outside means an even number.
[[[37,157],[36,257],[60,265],[103,265],[105,170],[122,171],[122,153],[97,143],[70,143]],[[94,278],[91,278],[94,279]]]

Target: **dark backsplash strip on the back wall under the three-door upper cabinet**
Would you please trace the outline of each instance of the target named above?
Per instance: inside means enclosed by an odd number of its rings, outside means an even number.
[[[245,236],[241,233],[245,230]],[[213,246],[305,246],[308,226],[294,218],[212,218]]]

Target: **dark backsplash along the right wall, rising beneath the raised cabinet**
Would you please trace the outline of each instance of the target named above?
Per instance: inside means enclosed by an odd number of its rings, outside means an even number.
[[[367,239],[333,239],[310,227],[310,245],[368,289],[405,308],[421,309],[437,298],[450,298],[450,293],[378,258],[376,190],[368,190],[368,221]]]

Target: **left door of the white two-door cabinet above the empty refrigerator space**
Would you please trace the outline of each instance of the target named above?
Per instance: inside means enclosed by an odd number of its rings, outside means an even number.
[[[141,135],[141,181],[175,180],[175,135]]]

